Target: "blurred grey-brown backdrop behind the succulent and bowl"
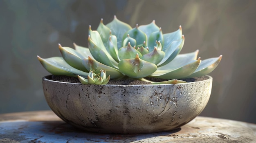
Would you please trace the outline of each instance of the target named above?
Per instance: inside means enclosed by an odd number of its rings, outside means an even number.
[[[181,53],[223,55],[201,116],[256,123],[255,0],[0,0],[0,113],[50,110],[42,89],[49,73],[37,60],[63,46],[87,47],[113,15],[135,27],[156,20],[164,33],[182,25]]]

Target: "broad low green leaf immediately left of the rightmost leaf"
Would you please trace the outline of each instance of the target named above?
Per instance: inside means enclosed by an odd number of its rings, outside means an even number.
[[[171,69],[157,69],[155,73],[150,75],[150,77],[156,77],[161,79],[182,79],[187,75],[191,75],[199,66],[201,62],[200,57],[198,60],[192,60],[188,64],[181,66],[179,68]]]

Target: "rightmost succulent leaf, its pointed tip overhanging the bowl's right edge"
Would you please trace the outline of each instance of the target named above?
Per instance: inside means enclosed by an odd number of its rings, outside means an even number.
[[[208,75],[218,66],[218,64],[221,61],[221,58],[222,58],[222,55],[220,55],[219,57],[213,57],[213,58],[202,60],[201,64],[198,66],[198,69],[195,70],[195,72],[192,75],[186,78]]]

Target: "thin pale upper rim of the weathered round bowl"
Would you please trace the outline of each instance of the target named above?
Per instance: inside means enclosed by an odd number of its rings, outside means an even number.
[[[192,81],[192,82],[187,82],[187,83],[179,83],[179,84],[190,84],[190,83],[197,83],[197,82],[202,82],[205,80],[212,80],[212,77],[209,75],[203,75],[207,79],[200,80],[200,81]],[[203,77],[201,76],[201,77]],[[48,82],[55,82],[55,83],[61,83],[61,84],[77,84],[77,85],[85,85],[86,84],[81,84],[81,83],[74,83],[74,82],[63,82],[63,81],[56,81],[56,80],[51,80],[52,75],[47,75],[43,77],[43,81],[48,81]],[[159,86],[159,85],[173,85],[173,84],[101,84],[101,85],[94,85],[94,86]],[[88,85],[89,86],[89,85]]]

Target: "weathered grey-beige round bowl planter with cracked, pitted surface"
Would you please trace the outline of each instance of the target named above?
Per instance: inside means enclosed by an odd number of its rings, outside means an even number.
[[[77,128],[98,133],[177,129],[202,112],[212,87],[208,75],[162,85],[83,85],[51,79],[43,77],[43,90],[53,112]]]

